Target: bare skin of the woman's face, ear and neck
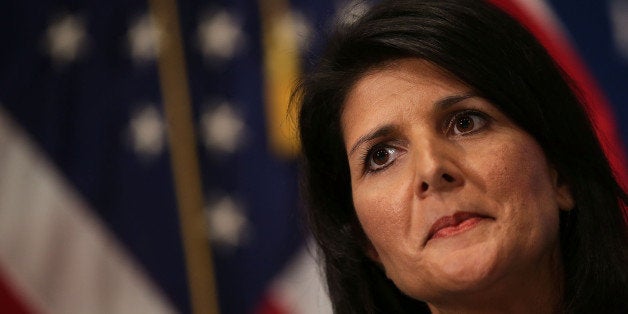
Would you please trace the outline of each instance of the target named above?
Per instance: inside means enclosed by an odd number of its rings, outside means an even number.
[[[529,134],[417,59],[359,79],[341,123],[369,256],[401,291],[434,313],[558,310],[573,199]]]

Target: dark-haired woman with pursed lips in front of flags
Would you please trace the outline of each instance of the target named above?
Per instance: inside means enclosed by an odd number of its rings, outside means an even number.
[[[296,95],[335,312],[628,311],[628,197],[569,80],[500,10],[383,1]]]

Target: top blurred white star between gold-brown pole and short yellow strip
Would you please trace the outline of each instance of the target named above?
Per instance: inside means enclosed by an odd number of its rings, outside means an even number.
[[[224,10],[202,18],[196,36],[201,52],[212,62],[233,58],[246,43],[240,21]]]

